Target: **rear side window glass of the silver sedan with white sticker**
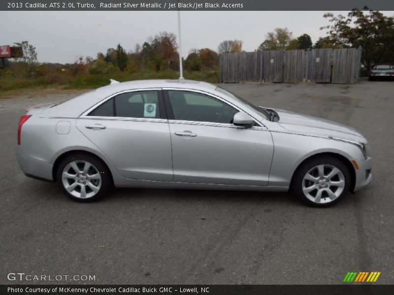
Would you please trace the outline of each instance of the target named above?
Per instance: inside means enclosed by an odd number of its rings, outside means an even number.
[[[156,90],[122,93],[99,105],[88,116],[160,118],[159,95]]]

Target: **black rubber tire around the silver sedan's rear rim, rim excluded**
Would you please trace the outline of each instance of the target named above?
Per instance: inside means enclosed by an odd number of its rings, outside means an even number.
[[[99,192],[94,195],[93,197],[90,198],[86,198],[86,199],[80,199],[77,198],[73,195],[71,195],[66,188],[63,185],[63,181],[62,181],[62,173],[63,173],[63,169],[66,167],[66,165],[70,162],[73,161],[86,161],[91,163],[92,165],[94,165],[100,173],[101,176],[101,187],[99,189]],[[64,158],[62,160],[62,162],[59,164],[57,171],[56,171],[56,179],[57,179],[57,183],[58,185],[61,187],[61,189],[63,190],[63,192],[66,194],[67,197],[71,198],[74,201],[78,201],[78,202],[94,202],[99,200],[100,198],[102,198],[103,196],[105,196],[110,187],[111,187],[111,177],[109,175],[109,171],[108,169],[105,167],[105,165],[102,164],[102,162],[100,160],[98,160],[97,158],[87,155],[87,154],[71,154],[66,156],[66,158]]]

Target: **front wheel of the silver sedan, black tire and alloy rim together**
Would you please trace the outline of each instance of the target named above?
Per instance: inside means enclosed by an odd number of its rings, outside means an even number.
[[[349,191],[350,173],[346,165],[332,156],[317,156],[296,170],[292,189],[302,202],[311,207],[329,207]]]

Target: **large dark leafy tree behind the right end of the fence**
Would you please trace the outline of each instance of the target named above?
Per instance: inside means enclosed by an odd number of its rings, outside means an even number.
[[[361,63],[366,71],[377,63],[394,63],[394,17],[379,11],[352,10],[347,16],[326,13],[331,23],[329,40],[341,47],[362,47]]]

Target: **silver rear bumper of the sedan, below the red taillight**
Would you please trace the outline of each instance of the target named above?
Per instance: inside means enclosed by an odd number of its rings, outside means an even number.
[[[16,148],[16,159],[26,176],[47,181],[54,180],[52,177],[53,165],[23,156],[19,146]]]

